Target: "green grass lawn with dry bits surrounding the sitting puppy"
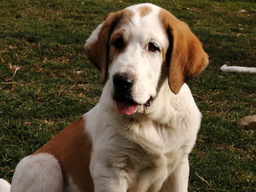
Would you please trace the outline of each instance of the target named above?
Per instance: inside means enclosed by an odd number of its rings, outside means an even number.
[[[0,178],[11,181],[21,158],[96,105],[102,85],[83,50],[85,40],[108,13],[142,2],[0,1]],[[212,60],[189,82],[203,114],[189,157],[189,191],[256,191],[255,132],[236,127],[238,119],[256,114],[256,76],[219,69],[256,65],[256,3],[148,2],[187,22]],[[248,13],[238,13],[242,9]],[[11,80],[8,63],[21,67]]]

